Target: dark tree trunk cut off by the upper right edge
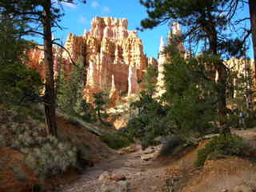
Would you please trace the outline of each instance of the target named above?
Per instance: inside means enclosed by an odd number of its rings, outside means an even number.
[[[252,40],[254,46],[254,78],[256,78],[256,1],[249,0],[249,10],[250,10],[250,28],[252,32]]]

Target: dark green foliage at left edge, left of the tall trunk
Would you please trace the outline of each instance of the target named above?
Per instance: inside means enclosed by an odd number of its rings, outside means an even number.
[[[24,25],[0,15],[0,102],[6,106],[26,106],[40,99],[40,75],[26,66],[32,44],[18,34]]]

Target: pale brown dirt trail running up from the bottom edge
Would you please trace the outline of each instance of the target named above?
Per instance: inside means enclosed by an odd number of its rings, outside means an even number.
[[[154,154],[159,147],[154,148]],[[165,166],[157,166],[152,160],[141,159],[144,154],[137,150],[131,154],[115,154],[100,162],[98,165],[88,168],[84,174],[71,186],[66,186],[62,192],[94,192],[99,190],[102,183],[98,177],[105,171],[109,173],[122,173],[126,176],[128,191],[153,191],[155,186],[160,186],[165,177]]]

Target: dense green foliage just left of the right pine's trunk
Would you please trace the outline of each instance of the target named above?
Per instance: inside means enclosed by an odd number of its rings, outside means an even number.
[[[169,49],[174,50],[171,46],[166,49],[167,53]],[[168,112],[170,123],[182,137],[192,132],[205,134],[213,128],[209,122],[216,119],[215,85],[210,79],[210,70],[206,70],[214,58],[201,55],[185,59],[180,54],[169,55],[165,65],[166,93],[163,100],[171,106]]]

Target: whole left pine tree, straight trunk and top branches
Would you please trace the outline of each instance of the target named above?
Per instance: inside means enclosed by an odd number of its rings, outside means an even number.
[[[21,21],[26,21],[30,28],[22,34],[41,35],[44,42],[44,62],[46,66],[45,83],[45,114],[46,114],[46,133],[57,136],[56,125],[56,94],[54,83],[54,58],[52,27],[58,27],[58,22],[62,18],[61,2],[74,3],[73,0],[2,0],[0,8],[3,14],[8,14],[10,18],[16,17]],[[82,1],[86,2],[86,1]],[[21,34],[21,35],[22,35]]]

